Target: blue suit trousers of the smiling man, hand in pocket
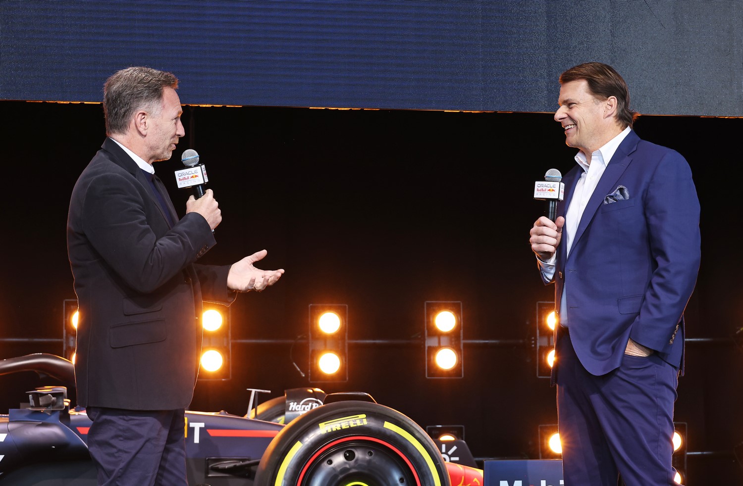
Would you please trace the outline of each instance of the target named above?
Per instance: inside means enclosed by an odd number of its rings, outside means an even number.
[[[557,352],[557,415],[565,485],[675,485],[673,403],[678,370],[658,355],[624,355],[595,376],[563,333]]]

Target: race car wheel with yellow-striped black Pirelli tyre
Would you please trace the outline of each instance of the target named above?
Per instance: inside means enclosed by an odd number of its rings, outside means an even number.
[[[438,448],[402,413],[337,401],[291,421],[268,445],[256,486],[450,486]]]

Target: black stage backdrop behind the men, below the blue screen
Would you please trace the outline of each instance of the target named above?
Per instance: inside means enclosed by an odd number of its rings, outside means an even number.
[[[555,90],[557,93],[557,89]],[[186,107],[186,137],[155,168],[181,211],[173,171],[186,148],[207,164],[224,220],[204,260],[231,263],[259,249],[286,274],[232,306],[233,338],[293,339],[308,305],[348,304],[348,382],[421,426],[463,424],[477,457],[539,456],[537,427],[557,421],[554,389],[536,378],[527,346],[466,345],[464,378],[425,378],[424,301],[461,301],[466,340],[528,340],[536,301],[551,301],[528,245],[544,210],[531,199],[548,168],[564,174],[574,149],[551,114]],[[0,102],[4,139],[4,339],[61,339],[62,301],[75,298],[65,249],[69,195],[103,142],[100,105]],[[743,119],[642,116],[640,137],[687,157],[701,200],[702,261],[687,307],[689,338],[676,421],[688,424],[688,485],[740,484],[743,441],[740,329],[743,283],[735,188]],[[678,237],[683,238],[680,234]],[[608,276],[609,277],[609,276]],[[61,341],[0,341],[0,358],[62,352]],[[192,410],[244,414],[247,387],[308,385],[288,344],[233,345],[233,378],[199,381]],[[306,341],[293,357],[307,371]],[[0,407],[45,384],[0,378]]]

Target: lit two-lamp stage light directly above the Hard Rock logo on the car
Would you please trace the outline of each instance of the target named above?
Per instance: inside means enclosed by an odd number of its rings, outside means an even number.
[[[348,381],[348,306],[309,306],[309,381]]]

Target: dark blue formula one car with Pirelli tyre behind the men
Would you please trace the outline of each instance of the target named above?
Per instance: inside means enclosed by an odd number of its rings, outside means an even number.
[[[0,361],[0,375],[19,371],[74,386],[74,367],[59,356]],[[421,427],[366,393],[307,392],[304,403],[273,398],[247,416],[186,412],[189,486],[482,485],[481,470],[444,462]],[[97,484],[91,421],[66,394],[38,388],[27,408],[0,415],[0,486]]]

